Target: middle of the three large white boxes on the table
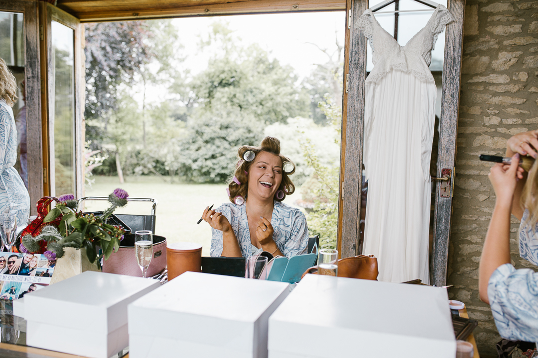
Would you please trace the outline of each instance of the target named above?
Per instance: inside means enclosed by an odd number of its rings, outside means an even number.
[[[186,272],[129,305],[130,358],[265,358],[284,282]]]

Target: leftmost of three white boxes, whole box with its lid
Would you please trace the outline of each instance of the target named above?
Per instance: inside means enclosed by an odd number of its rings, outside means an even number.
[[[159,281],[87,271],[24,296],[26,344],[89,358],[129,345],[127,305]]]

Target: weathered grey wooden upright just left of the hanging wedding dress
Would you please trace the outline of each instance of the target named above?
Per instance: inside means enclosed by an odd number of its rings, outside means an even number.
[[[349,59],[349,89],[345,120],[344,201],[342,204],[341,257],[358,254],[360,191],[362,189],[364,80],[366,79],[366,37],[355,21],[368,7],[367,0],[352,0]],[[345,79],[344,79],[345,82]],[[342,121],[344,129],[344,121]],[[344,133],[344,130],[342,130]]]

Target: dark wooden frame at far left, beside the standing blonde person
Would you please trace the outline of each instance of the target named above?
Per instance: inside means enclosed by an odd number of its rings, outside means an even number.
[[[36,203],[43,196],[38,5],[34,0],[0,0],[0,11],[18,12],[24,16],[28,192],[30,215],[37,215]]]

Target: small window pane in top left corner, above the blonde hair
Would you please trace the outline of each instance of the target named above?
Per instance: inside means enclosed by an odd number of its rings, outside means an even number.
[[[9,65],[24,67],[23,14],[0,12],[0,57]]]

